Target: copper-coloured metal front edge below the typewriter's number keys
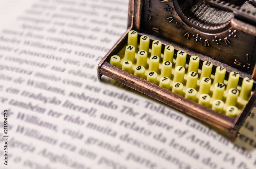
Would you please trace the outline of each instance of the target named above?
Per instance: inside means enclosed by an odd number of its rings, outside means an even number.
[[[236,136],[237,130],[234,130],[233,127],[237,122],[237,118],[226,116],[225,114],[221,114],[194,101],[188,100],[183,96],[127,73],[107,62],[103,63],[100,69],[100,74],[151,96],[167,105],[175,107],[179,111],[185,112],[210,125],[216,126],[225,132],[233,132],[232,137]]]

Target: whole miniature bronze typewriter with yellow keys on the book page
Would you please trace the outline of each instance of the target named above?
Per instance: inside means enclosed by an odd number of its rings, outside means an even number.
[[[238,135],[255,105],[256,1],[130,0],[128,29],[98,66],[110,77]]]

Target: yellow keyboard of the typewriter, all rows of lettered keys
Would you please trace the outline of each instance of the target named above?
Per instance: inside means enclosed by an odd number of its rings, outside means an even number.
[[[214,67],[210,61],[200,62],[198,56],[176,51],[171,45],[166,45],[162,53],[160,41],[153,41],[150,48],[148,36],[142,35],[139,44],[137,38],[138,33],[130,31],[127,46],[112,56],[109,63],[227,116],[236,117],[247,104],[252,94],[252,79],[243,78],[239,86],[237,72],[229,73],[226,80],[225,67]]]

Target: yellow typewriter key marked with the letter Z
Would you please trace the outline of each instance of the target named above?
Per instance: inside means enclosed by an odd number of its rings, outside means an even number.
[[[243,83],[242,83],[242,89],[241,89],[241,93],[240,93],[240,97],[243,100],[248,100],[250,95],[251,95],[251,91],[252,91],[252,86],[253,86],[253,80],[246,77],[243,79]]]

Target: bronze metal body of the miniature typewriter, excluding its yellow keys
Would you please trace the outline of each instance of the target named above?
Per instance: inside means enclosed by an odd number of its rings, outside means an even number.
[[[130,0],[127,31],[99,63],[98,79],[101,79],[102,75],[114,79],[126,86],[166,103],[179,111],[185,112],[221,129],[228,133],[230,138],[235,138],[238,134],[238,130],[254,107],[256,100],[255,80],[253,80],[256,77],[255,6],[256,1],[253,0],[234,1],[234,4],[229,1],[218,0]],[[124,68],[126,65],[123,65],[122,68],[122,63],[126,60],[124,58],[127,50],[126,47],[129,48],[128,39],[132,35],[132,31],[137,33],[137,45],[135,45],[135,48],[137,49],[135,51],[134,62],[131,62],[132,72],[129,72],[124,71],[126,70]],[[129,35],[129,33],[131,35]],[[133,34],[135,33],[133,32]],[[140,52],[140,40],[143,36],[149,37],[150,50],[148,51],[145,64],[145,77],[138,77],[134,74],[136,74],[135,71],[137,71],[138,68],[141,69],[141,67],[143,67],[137,64],[138,57],[141,57],[138,56],[138,52]],[[162,46],[160,46],[161,54],[159,54],[158,58],[160,68],[158,69],[159,72],[156,72],[157,81],[153,83],[148,80],[147,77],[151,72],[151,59],[154,57],[157,58],[156,56],[151,56],[153,51],[152,43],[157,41],[162,43]],[[168,79],[171,81],[169,85],[170,88],[167,87],[166,89],[163,87],[163,81],[161,81],[163,79],[160,78],[163,78],[161,72],[165,62],[163,57],[165,57],[165,49],[168,48],[168,46],[173,46],[174,54],[173,62],[170,61],[173,65],[173,67],[170,68],[172,75],[170,75]],[[132,47],[130,46],[130,49],[131,48]],[[177,94],[177,92],[172,91],[174,91],[174,84],[176,84],[174,76],[176,76],[175,68],[177,67],[178,57],[180,57],[180,51],[185,51],[187,55],[185,58],[186,65],[183,66],[185,68],[185,80],[184,82],[181,82],[184,84],[184,91],[182,94]],[[114,57],[115,55],[120,56],[120,66],[110,64],[112,62],[111,57]],[[201,82],[197,83],[196,87],[194,87],[197,93],[203,91],[203,89],[200,89],[200,84],[202,84],[202,77],[200,78],[200,76],[202,76],[201,74],[204,71],[204,64],[207,65],[208,62],[212,64],[212,69],[210,69],[211,74],[209,76],[211,88],[210,91],[208,91],[210,92],[208,93],[209,95],[207,95],[211,97],[211,101],[209,101],[210,104],[208,106],[200,103],[200,94],[196,96],[196,101],[187,99],[187,96],[185,97],[186,92],[189,91],[186,91],[189,88],[188,86],[186,87],[186,81],[189,78],[188,67],[191,63],[190,59],[192,56],[200,58],[197,73],[198,81]],[[213,83],[215,81],[215,76],[217,76],[215,73],[217,72],[216,69],[218,69],[218,67],[220,67],[220,70],[222,70],[222,67],[226,69],[224,74],[225,77],[223,77],[225,80],[222,80],[226,90],[230,76],[237,73],[239,74],[238,87],[235,87],[236,89],[232,90],[240,93],[240,95],[237,96],[238,101],[236,101],[237,103],[234,105],[239,109],[238,114],[235,116],[228,116],[227,113],[225,113],[230,109],[230,107],[226,105],[223,112],[216,111],[214,108],[213,104],[215,104],[215,102],[213,95],[215,88]],[[243,82],[250,82],[250,85],[252,86],[250,95],[248,95],[245,100],[243,100],[244,97],[241,96],[241,93],[244,93],[242,90],[247,90],[247,87],[245,87],[246,84],[242,86]],[[191,88],[189,89],[191,90]],[[233,96],[229,98],[229,91],[226,90],[222,99],[223,103],[233,103]]]

